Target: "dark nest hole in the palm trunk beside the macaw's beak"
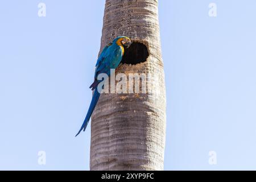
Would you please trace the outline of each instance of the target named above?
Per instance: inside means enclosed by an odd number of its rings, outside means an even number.
[[[149,56],[147,46],[143,43],[133,42],[131,46],[125,49],[125,54],[121,61],[122,64],[139,64],[147,61]]]

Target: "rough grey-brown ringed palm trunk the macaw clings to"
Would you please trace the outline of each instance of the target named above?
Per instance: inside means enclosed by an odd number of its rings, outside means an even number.
[[[162,170],[166,90],[157,0],[106,0],[101,50],[116,36],[144,43],[147,61],[121,64],[121,73],[146,73],[146,94],[102,94],[92,115],[91,170]]]

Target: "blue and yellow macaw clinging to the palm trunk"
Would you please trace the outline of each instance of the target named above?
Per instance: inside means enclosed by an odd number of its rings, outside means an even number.
[[[94,82],[90,85],[90,89],[94,90],[92,101],[90,102],[89,110],[84,119],[84,123],[82,123],[82,127],[79,130],[79,135],[82,130],[85,131],[86,126],[89,123],[90,116],[93,113],[93,110],[98,102],[98,98],[100,98],[100,93],[98,92],[98,84],[102,81],[97,80],[97,77],[100,73],[106,73],[110,76],[110,69],[115,69],[121,63],[123,54],[125,53],[125,49],[129,48],[131,45],[131,40],[126,36],[118,36],[113,40],[112,43],[109,43],[101,52],[101,55],[98,57],[96,63],[96,69],[94,74]],[[104,81],[104,80],[103,80]]]

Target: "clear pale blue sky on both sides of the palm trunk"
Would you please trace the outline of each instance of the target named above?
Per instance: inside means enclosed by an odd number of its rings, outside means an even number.
[[[90,130],[74,135],[90,102],[105,1],[86,2],[1,2],[0,169],[89,169]],[[216,18],[208,15],[211,2]],[[255,6],[159,1],[164,169],[256,169]],[[38,151],[46,151],[46,165]]]

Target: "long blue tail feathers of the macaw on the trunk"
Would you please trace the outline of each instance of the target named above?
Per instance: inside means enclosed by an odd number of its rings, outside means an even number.
[[[98,102],[98,98],[100,98],[100,93],[98,93],[98,89],[96,88],[94,90],[92,101],[90,102],[90,106],[89,106],[88,112],[87,112],[86,117],[84,119],[84,123],[82,123],[82,127],[79,130],[79,133],[76,134],[76,136],[79,135],[82,130],[85,131],[85,129],[86,129],[86,127],[87,127],[87,125],[88,125],[88,123],[90,121],[90,116],[92,115],[93,110],[94,110],[94,108],[95,108],[95,106],[96,106],[96,104]]]

